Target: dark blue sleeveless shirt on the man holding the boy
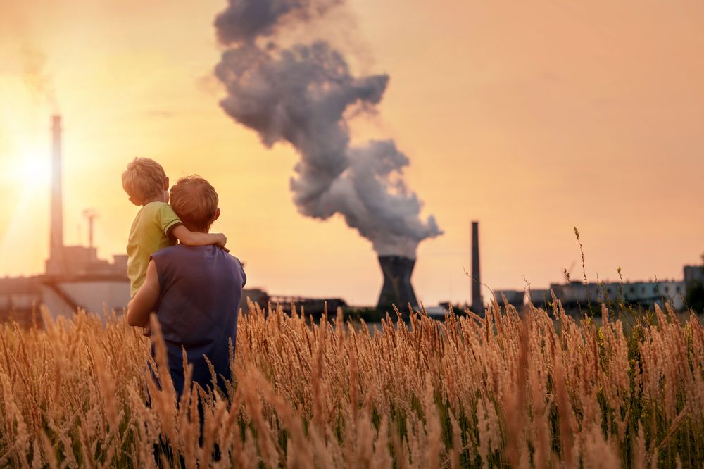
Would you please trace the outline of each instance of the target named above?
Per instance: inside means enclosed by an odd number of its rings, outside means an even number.
[[[193,364],[193,381],[207,389],[208,357],[225,390],[230,380],[230,341],[237,343],[237,313],[246,275],[242,264],[218,246],[179,244],[154,253],[159,279],[156,315],[168,349],[168,363],[177,394],[184,387],[181,347]]]

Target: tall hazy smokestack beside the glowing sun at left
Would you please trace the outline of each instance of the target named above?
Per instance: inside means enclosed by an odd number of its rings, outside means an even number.
[[[51,116],[51,232],[49,259],[52,273],[63,265],[63,192],[61,191],[61,115]]]

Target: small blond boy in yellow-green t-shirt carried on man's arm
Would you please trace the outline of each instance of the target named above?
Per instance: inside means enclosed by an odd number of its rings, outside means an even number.
[[[222,233],[192,232],[181,223],[168,204],[169,178],[164,168],[151,158],[134,158],[127,165],[122,173],[122,188],[132,204],[142,206],[127,240],[130,298],[142,287],[149,259],[159,249],[175,245],[176,240],[187,246],[216,244],[225,247],[227,238]]]

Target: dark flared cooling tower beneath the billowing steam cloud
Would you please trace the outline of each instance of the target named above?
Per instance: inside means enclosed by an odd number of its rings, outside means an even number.
[[[407,311],[408,304],[417,308],[413,285],[410,284],[410,275],[413,273],[415,259],[401,256],[379,256],[379,264],[384,274],[384,286],[379,294],[379,309],[391,309],[396,305],[399,311]]]

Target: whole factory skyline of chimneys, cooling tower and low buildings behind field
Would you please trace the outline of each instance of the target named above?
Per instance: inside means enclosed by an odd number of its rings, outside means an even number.
[[[88,246],[66,246],[63,242],[63,191],[62,191],[62,146],[61,115],[51,117],[51,225],[49,229],[49,258],[46,259],[45,273],[29,277],[0,278],[0,320],[15,320],[23,326],[39,325],[39,306],[46,306],[49,314],[70,316],[83,309],[103,317],[107,313],[122,313],[130,300],[130,282],[127,279],[127,255],[115,254],[109,262],[97,257],[93,245],[92,223],[96,213],[85,211],[89,223]],[[472,311],[483,313],[482,280],[479,265],[479,223],[472,222]],[[379,255],[379,265],[384,276],[381,293],[377,301],[377,311],[391,311],[392,305],[399,310],[407,306],[417,308],[411,275],[415,258],[406,256]],[[605,284],[570,282],[550,284],[549,289],[497,290],[494,293],[499,304],[510,304],[520,309],[531,301],[543,306],[551,301],[552,293],[570,311],[586,304],[621,299],[629,304],[652,307],[669,301],[674,308],[684,305],[684,294],[689,285],[704,282],[704,269],[699,265],[684,266],[683,280],[658,282],[612,282]],[[249,299],[261,307],[268,304],[281,305],[284,311],[295,307],[308,314],[320,315],[327,311],[345,308],[348,305],[340,298],[312,299],[302,296],[269,296],[264,289],[245,289],[243,308]],[[443,307],[444,306],[444,307]],[[449,303],[440,308],[427,308],[430,313],[443,313]],[[373,308],[367,308],[373,309]]]

